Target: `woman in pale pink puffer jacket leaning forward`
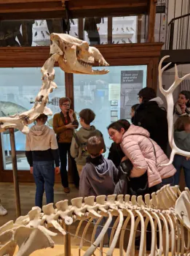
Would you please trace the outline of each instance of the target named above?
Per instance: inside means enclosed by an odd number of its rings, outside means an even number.
[[[132,162],[130,181],[135,188],[140,186],[143,188],[143,183],[147,178],[149,188],[157,184],[173,185],[175,167],[173,165],[161,166],[167,164],[169,159],[158,144],[150,139],[150,134],[146,129],[130,125],[129,122],[122,124],[116,121],[109,125],[108,134],[115,143],[120,144],[126,158]]]

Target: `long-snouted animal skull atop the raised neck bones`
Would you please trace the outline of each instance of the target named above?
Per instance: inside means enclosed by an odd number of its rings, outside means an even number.
[[[98,62],[99,66],[109,66],[100,51],[89,46],[86,41],[71,37],[68,34],[55,34],[50,36],[50,54],[60,55],[58,63],[67,73],[104,75],[108,70],[93,70],[92,65]]]

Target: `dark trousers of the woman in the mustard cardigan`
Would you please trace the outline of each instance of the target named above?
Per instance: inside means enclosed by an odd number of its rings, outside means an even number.
[[[74,184],[79,187],[79,173],[76,168],[76,162],[70,154],[71,143],[58,143],[60,154],[60,178],[63,187],[68,187],[68,171],[67,171],[67,155],[71,161],[71,173],[74,179]]]

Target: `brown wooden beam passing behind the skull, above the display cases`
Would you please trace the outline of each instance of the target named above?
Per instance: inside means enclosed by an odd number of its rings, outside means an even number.
[[[95,45],[109,64],[121,65],[120,59],[132,64],[132,59],[159,58],[162,42],[121,44],[121,45]],[[50,47],[1,47],[0,67],[42,67],[44,61],[50,56]],[[117,60],[117,61],[116,61]],[[116,61],[116,62],[115,62]],[[143,64],[145,64],[143,62]],[[58,63],[56,63],[58,66]]]

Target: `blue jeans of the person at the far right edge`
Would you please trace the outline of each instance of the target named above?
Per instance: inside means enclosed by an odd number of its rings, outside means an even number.
[[[179,184],[181,168],[183,168],[185,174],[186,187],[190,189],[190,160],[186,160],[186,157],[176,154],[173,160],[173,165],[177,170],[174,176],[174,184]]]

